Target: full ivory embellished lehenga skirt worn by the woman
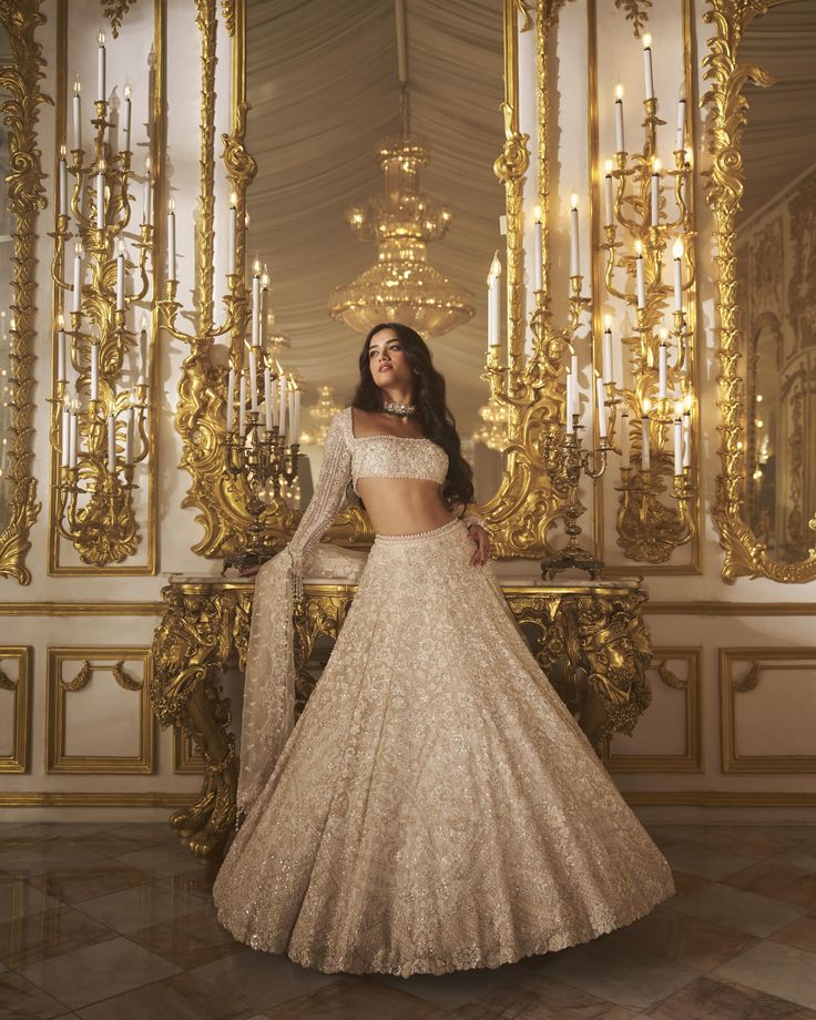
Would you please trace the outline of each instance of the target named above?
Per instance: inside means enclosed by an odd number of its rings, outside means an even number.
[[[472,551],[459,520],[375,538],[217,876],[235,938],[326,972],[443,973],[588,941],[674,892]]]

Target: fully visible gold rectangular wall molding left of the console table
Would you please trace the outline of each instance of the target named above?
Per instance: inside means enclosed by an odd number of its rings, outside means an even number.
[[[62,675],[63,663],[83,660],[73,680]],[[141,682],[132,681],[122,670],[125,659],[142,663]],[[89,660],[94,660],[92,666]],[[65,754],[65,696],[82,691],[91,681],[94,669],[108,669],[119,686],[139,692],[139,754],[68,755]],[[155,720],[150,704],[153,659],[150,649],[115,646],[50,647],[45,675],[45,773],[72,775],[153,775],[155,772]]]

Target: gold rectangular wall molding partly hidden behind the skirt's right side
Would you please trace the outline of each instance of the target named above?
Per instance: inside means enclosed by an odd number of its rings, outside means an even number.
[[[644,606],[645,609],[645,606]],[[698,647],[655,647],[652,666],[663,682],[685,694],[685,754],[610,754],[609,741],[604,747],[604,762],[611,773],[700,773],[703,772],[703,706],[701,696]],[[686,675],[679,680],[665,667],[670,659],[686,662]],[[662,662],[660,662],[662,660]],[[641,725],[647,725],[641,723]]]

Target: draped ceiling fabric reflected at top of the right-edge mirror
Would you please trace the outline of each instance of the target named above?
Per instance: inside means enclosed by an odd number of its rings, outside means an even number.
[[[755,18],[740,57],[776,78],[769,89],[745,89],[743,217],[747,218],[816,164],[815,0],[785,0]]]

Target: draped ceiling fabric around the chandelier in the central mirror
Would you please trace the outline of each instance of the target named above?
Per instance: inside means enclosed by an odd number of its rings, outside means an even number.
[[[411,133],[430,151],[420,185],[453,212],[428,258],[476,307],[469,324],[429,340],[465,436],[488,398],[479,379],[486,277],[503,244],[493,173],[503,142],[501,4],[407,0],[407,32]],[[327,308],[333,288],[376,258],[345,213],[382,191],[375,149],[399,133],[394,0],[249,0],[246,78],[247,146],[258,164],[247,192],[248,255],[268,264],[276,326],[292,340],[282,361],[305,380],[304,406],[325,382],[343,404],[364,337]]]

